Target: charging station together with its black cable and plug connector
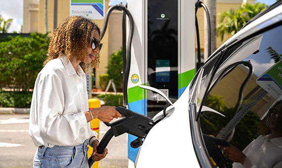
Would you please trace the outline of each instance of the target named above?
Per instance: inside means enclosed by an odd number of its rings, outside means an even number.
[[[195,2],[127,0],[127,7],[119,3],[107,11],[100,40],[114,9],[123,10],[127,15],[127,46],[123,41],[123,101],[128,110],[116,108],[126,117],[108,124],[111,129],[104,135],[97,152],[104,151],[113,135],[127,132],[128,167],[134,168],[142,138],[162,120],[152,123],[151,119],[169,105],[163,96],[139,85],[162,91],[174,103],[195,75]],[[131,147],[131,142],[135,148]],[[93,163],[90,157],[89,167]]]

